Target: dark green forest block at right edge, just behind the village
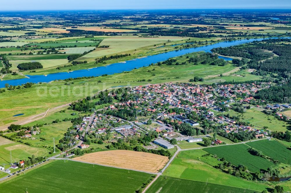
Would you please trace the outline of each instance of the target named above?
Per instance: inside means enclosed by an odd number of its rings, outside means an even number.
[[[271,86],[270,88],[259,90],[254,97],[270,103],[291,103],[290,88],[291,83]]]

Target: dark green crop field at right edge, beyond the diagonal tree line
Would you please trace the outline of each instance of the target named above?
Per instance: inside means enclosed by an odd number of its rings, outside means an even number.
[[[291,150],[276,140],[261,140],[249,142],[246,144],[255,148],[256,150],[262,151],[263,154],[272,157],[281,163],[291,163]]]

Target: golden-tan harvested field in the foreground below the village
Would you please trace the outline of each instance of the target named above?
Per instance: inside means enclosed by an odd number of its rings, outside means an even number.
[[[145,172],[159,172],[168,162],[168,157],[130,150],[111,150],[86,154],[73,160]]]

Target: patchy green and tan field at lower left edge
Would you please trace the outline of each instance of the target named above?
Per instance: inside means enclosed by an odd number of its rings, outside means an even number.
[[[19,160],[27,159],[27,157],[30,157],[32,154],[35,156],[45,156],[49,152],[46,148],[31,147],[0,137],[0,164],[8,164],[11,162],[10,151],[12,157],[11,161],[13,163],[19,162]]]

